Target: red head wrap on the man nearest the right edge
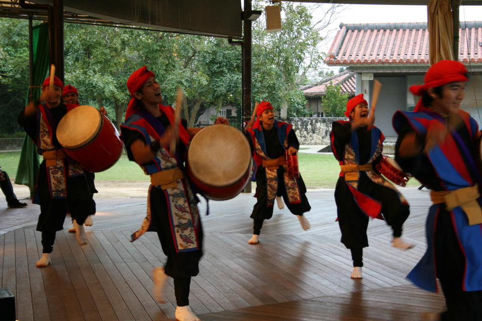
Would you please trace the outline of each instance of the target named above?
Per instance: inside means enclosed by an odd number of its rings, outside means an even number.
[[[468,81],[467,69],[465,66],[453,60],[440,60],[433,64],[423,77],[423,85],[410,86],[410,91],[416,96],[422,96],[429,88],[439,87],[451,82]],[[414,111],[422,111],[427,108],[419,99]]]

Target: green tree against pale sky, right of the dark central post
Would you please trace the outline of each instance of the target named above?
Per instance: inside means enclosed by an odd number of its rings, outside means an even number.
[[[263,9],[265,2],[254,2]],[[329,5],[313,18],[319,5],[283,3],[282,30],[267,33],[263,19],[253,24],[253,100],[269,100],[281,117],[302,116],[306,100],[298,88],[323,66],[320,44],[340,5]]]

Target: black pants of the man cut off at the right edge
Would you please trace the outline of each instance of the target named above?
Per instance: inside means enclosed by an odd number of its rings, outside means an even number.
[[[435,231],[435,260],[437,277],[442,285],[447,310],[442,320],[482,320],[482,290],[464,291],[462,281],[465,257],[453,229],[450,214],[441,209]]]

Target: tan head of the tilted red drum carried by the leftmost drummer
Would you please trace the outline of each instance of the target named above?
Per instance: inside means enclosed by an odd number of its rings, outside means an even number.
[[[92,106],[77,106],[60,120],[57,139],[64,148],[80,148],[98,134],[101,124],[100,111]]]

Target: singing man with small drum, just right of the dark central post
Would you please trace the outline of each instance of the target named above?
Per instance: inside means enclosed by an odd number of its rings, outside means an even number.
[[[287,172],[286,152],[295,154],[300,143],[292,126],[277,121],[273,106],[262,101],[257,109],[257,120],[245,132],[251,141],[256,178],[257,202],[253,208],[253,237],[250,244],[258,244],[264,220],[273,216],[273,205],[277,196],[282,196],[291,213],[296,215],[303,230],[310,224],[303,213],[311,210],[306,198],[306,187],[301,176],[290,176]],[[280,203],[279,203],[280,204]]]

